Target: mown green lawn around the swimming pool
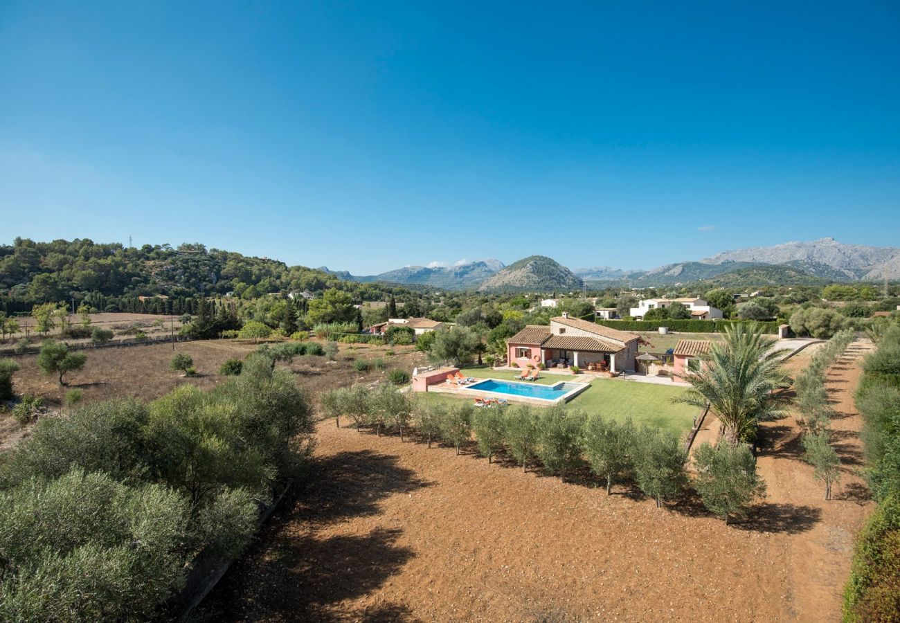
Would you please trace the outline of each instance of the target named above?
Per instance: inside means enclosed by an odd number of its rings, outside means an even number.
[[[515,372],[507,370],[491,370],[487,367],[463,368],[463,374],[475,378],[496,378],[507,381],[515,380]],[[599,412],[614,420],[631,418],[635,424],[648,424],[661,429],[682,434],[688,431],[698,409],[684,404],[672,404],[671,398],[684,393],[683,387],[668,385],[637,383],[621,379],[594,378],[588,375],[541,375],[540,384],[553,384],[559,381],[576,381],[590,383],[590,387],[568,403],[572,409],[585,412]],[[423,393],[419,400],[454,402],[460,400],[452,394]]]

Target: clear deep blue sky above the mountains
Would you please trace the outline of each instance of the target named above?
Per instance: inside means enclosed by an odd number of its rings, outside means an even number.
[[[900,245],[896,2],[0,0],[0,242],[366,275]]]

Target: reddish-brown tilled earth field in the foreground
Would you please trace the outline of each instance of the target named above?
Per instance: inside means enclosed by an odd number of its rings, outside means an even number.
[[[867,347],[852,348],[829,377],[847,466],[836,500],[822,500],[800,461],[792,418],[767,426],[769,497],[727,527],[695,504],[657,510],[633,492],[608,497],[326,421],[310,483],[198,618],[839,620],[852,535],[869,510],[851,474],[851,394]]]

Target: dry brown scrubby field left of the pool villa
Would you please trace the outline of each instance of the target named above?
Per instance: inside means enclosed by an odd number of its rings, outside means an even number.
[[[116,314],[121,315],[121,314]],[[54,377],[42,375],[36,365],[36,355],[14,357],[22,369],[14,375],[14,391],[18,394],[33,393],[44,399],[50,411],[58,410],[70,389],[84,393],[85,401],[114,397],[138,397],[152,400],[175,388],[190,383],[199,387],[211,387],[225,377],[218,374],[219,367],[229,357],[243,358],[256,348],[252,343],[234,340],[206,340],[178,342],[176,351],[171,344],[149,344],[125,348],[98,348],[86,350],[87,363],[83,370],[66,376],[68,387],[59,387]],[[340,345],[337,362],[329,363],[326,357],[298,357],[291,370],[297,382],[310,390],[311,397],[324,389],[355,383],[374,383],[383,379],[388,370],[401,367],[408,372],[424,363],[424,355],[413,347],[395,347],[394,355],[385,355],[388,348],[368,345]],[[175,352],[193,358],[197,375],[184,377],[169,369]],[[383,358],[384,370],[360,373],[353,367],[355,358]],[[19,438],[27,436],[9,413],[0,412],[0,451],[10,447]]]

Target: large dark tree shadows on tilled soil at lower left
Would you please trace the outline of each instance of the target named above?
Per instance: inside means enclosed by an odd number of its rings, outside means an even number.
[[[371,450],[313,460],[304,482],[266,523],[257,545],[232,565],[197,618],[410,619],[401,605],[392,604],[359,613],[332,611],[342,600],[374,591],[410,560],[412,550],[396,544],[400,529],[319,536],[321,528],[336,522],[378,514],[380,502],[392,494],[431,485],[398,461]]]

